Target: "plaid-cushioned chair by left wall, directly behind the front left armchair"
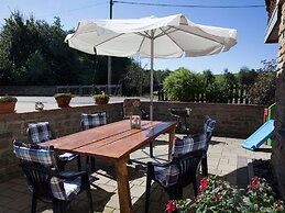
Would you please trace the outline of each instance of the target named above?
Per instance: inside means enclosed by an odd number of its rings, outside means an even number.
[[[47,142],[54,139],[54,134],[51,130],[48,122],[37,122],[37,123],[29,123],[28,124],[28,141],[31,144],[40,144],[43,142]],[[64,153],[56,156],[57,158],[57,167],[59,171],[64,170],[64,167],[67,162],[77,159],[78,170],[81,170],[81,160],[80,156],[74,153]]]

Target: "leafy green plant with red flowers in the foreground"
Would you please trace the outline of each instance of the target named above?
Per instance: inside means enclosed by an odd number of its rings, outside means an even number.
[[[168,213],[232,213],[232,212],[284,212],[284,203],[273,197],[272,188],[265,179],[254,177],[249,190],[240,190],[218,177],[204,178],[200,181],[200,194],[194,200],[168,201]]]

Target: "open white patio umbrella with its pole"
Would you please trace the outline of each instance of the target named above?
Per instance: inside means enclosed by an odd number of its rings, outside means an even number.
[[[237,44],[237,30],[195,24],[183,14],[165,18],[81,21],[65,42],[78,51],[151,58],[150,119],[153,120],[153,59],[213,55]]]

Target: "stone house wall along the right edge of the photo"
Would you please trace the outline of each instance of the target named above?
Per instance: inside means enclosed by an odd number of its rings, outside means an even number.
[[[276,81],[276,122],[274,143],[272,147],[272,166],[278,182],[283,200],[285,199],[285,3],[282,5],[282,16],[278,32],[278,70]]]

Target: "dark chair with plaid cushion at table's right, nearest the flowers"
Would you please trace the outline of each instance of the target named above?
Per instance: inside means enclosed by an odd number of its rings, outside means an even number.
[[[149,212],[152,180],[168,193],[171,200],[182,199],[183,188],[190,183],[193,183],[194,194],[197,195],[196,176],[201,158],[202,150],[196,150],[174,156],[166,164],[147,162],[145,213]]]

